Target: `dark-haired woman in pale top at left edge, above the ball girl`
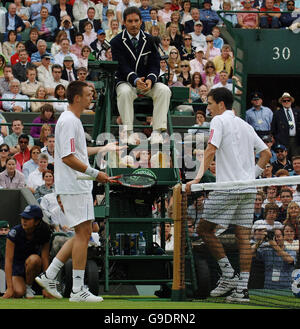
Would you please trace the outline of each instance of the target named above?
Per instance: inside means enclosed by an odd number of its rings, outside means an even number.
[[[25,187],[24,175],[16,170],[17,160],[13,157],[6,159],[6,169],[0,173],[0,186],[2,188]]]

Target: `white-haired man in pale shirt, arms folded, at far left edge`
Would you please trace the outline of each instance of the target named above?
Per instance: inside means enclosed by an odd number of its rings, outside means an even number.
[[[2,95],[2,99],[10,99],[2,101],[2,108],[6,112],[28,112],[30,105],[26,102],[27,95],[20,94],[20,82],[13,79],[9,83],[9,92]],[[15,101],[21,99],[22,101]],[[24,100],[24,101],[23,101]]]

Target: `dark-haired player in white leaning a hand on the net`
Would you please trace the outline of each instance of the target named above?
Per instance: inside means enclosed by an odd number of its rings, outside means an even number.
[[[216,182],[254,180],[271,158],[266,144],[254,129],[232,111],[232,92],[226,88],[212,89],[208,94],[207,109],[213,119],[210,137],[204,152],[204,163],[194,180],[186,184],[187,193],[191,185],[200,182],[203,173],[216,159]],[[255,165],[254,152],[259,153]],[[210,295],[227,296],[227,302],[249,302],[248,281],[252,253],[250,234],[256,196],[255,188],[213,191],[205,202],[203,219],[198,232],[216,258],[222,276]],[[240,275],[236,275],[223,248],[215,235],[217,225],[235,225],[235,235],[240,251]]]

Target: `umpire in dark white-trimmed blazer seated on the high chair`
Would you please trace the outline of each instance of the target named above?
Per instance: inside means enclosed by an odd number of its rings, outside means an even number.
[[[132,24],[131,20],[134,20],[136,24]],[[162,141],[161,132],[166,129],[166,113],[171,92],[167,86],[157,82],[160,70],[159,53],[153,45],[152,38],[150,40],[150,36],[140,29],[142,21],[138,8],[127,8],[124,11],[124,21],[126,29],[111,41],[113,60],[119,62],[116,87],[118,109],[130,138],[131,135],[134,136],[132,119],[133,101],[137,97],[136,88],[143,94],[153,97],[153,132],[150,142],[151,144],[159,143]],[[136,38],[137,48],[129,35]],[[143,48],[138,48],[139,44],[143,44]],[[147,52],[147,60],[137,62],[133,52],[139,56]]]

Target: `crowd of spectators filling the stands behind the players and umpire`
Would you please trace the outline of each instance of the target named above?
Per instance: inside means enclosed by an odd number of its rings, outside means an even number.
[[[94,82],[98,77],[89,69],[88,62],[112,60],[110,41],[124,28],[122,13],[125,8],[139,7],[142,29],[153,36],[161,55],[161,80],[167,78],[169,87],[189,88],[191,105],[179,109],[194,112],[196,123],[189,132],[196,134],[198,128],[208,128],[209,124],[206,107],[192,105],[193,102],[205,103],[212,88],[223,86],[233,91],[234,84],[242,87],[238,77],[233,75],[234,54],[221,37],[220,28],[226,27],[225,22],[243,29],[288,28],[300,15],[295,11],[297,5],[300,5],[299,1],[294,0],[204,0],[203,7],[198,9],[193,8],[189,0],[0,1],[0,20],[3,22],[0,26],[3,35],[0,43],[0,111],[38,114],[29,134],[24,134],[21,118],[12,122],[11,132],[8,127],[1,126],[0,187],[26,186],[41,204],[50,200],[55,186],[54,114],[67,109],[66,88],[71,81],[87,81],[97,94]],[[221,13],[224,21],[217,10],[241,12]],[[237,88],[235,93],[241,94],[241,90]],[[300,122],[297,122],[296,114],[288,121],[284,133],[280,126],[280,111],[273,114],[262,102],[263,95],[254,92],[251,95],[253,107],[245,118],[273,154],[260,179],[299,175],[300,150],[294,137]],[[294,98],[288,93],[279,99],[282,109],[292,110],[293,103]],[[1,113],[0,123],[5,123]],[[151,162],[147,152],[144,158],[147,167]],[[213,165],[206,178],[215,180]],[[257,194],[253,254],[270,271],[266,272],[264,287],[286,287],[286,273],[294,268],[299,253],[300,188],[287,186],[273,188],[273,192],[269,190],[271,187]],[[197,237],[196,228],[204,201],[205,196],[201,196],[188,209],[191,238]],[[51,202],[55,203],[56,199]],[[153,213],[158,209],[159,205],[154,205]],[[169,223],[166,228],[171,250],[173,241]],[[267,232],[271,230],[275,239],[267,241]],[[281,264],[277,273],[279,279],[271,275],[270,262],[275,256]]]

